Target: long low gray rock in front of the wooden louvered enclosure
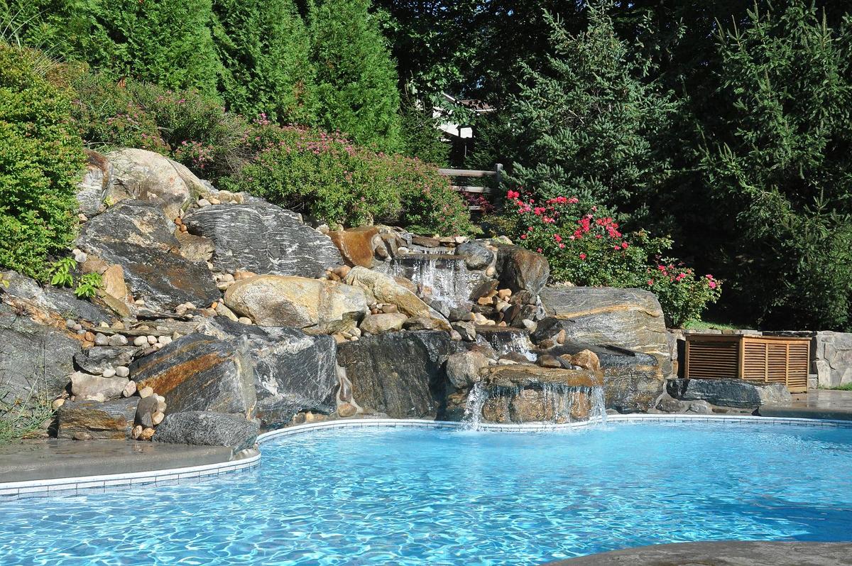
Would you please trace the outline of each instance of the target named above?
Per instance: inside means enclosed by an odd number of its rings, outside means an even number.
[[[758,408],[792,402],[784,384],[758,384],[744,379],[669,379],[665,389],[675,399],[707,401],[719,407]]]

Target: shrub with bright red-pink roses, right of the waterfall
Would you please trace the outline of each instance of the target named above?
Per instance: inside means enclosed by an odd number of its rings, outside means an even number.
[[[602,207],[564,196],[537,202],[509,191],[506,208],[516,215],[515,243],[544,254],[554,282],[647,289],[659,298],[666,323],[676,327],[699,318],[722,292],[712,275],[696,277],[682,263],[660,259],[671,240],[644,231],[625,234]]]

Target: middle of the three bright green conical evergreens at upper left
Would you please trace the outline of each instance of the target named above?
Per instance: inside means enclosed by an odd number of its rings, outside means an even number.
[[[216,48],[229,110],[282,124],[314,122],[308,31],[292,0],[214,0]]]

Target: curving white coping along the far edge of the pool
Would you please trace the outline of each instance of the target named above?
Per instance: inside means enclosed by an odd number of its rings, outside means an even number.
[[[751,425],[793,425],[821,428],[849,428],[852,421],[832,419],[803,419],[791,417],[758,417],[751,415],[688,415],[688,414],[619,414],[607,415],[607,423],[729,423]],[[550,432],[555,430],[583,429],[598,425],[601,419],[591,419],[582,423],[555,425],[531,423],[524,425],[481,424],[477,430],[494,432]],[[276,438],[303,434],[312,430],[337,428],[429,428],[458,430],[463,423],[430,419],[341,419],[319,423],[295,425],[283,429],[269,430],[257,436],[262,444]],[[194,480],[201,477],[220,476],[237,471],[247,471],[261,464],[262,453],[245,459],[228,460],[216,464],[166,468],[152,471],[136,471],[98,476],[60,477],[21,482],[0,482],[0,503],[30,497],[49,497],[54,495],[75,495],[103,493],[108,489],[128,488],[142,485],[174,485],[181,480]]]

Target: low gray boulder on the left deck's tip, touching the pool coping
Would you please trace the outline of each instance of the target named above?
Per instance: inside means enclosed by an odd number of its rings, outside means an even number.
[[[227,446],[233,453],[238,453],[255,445],[257,431],[255,423],[239,414],[187,411],[166,415],[153,440],[194,446]]]

